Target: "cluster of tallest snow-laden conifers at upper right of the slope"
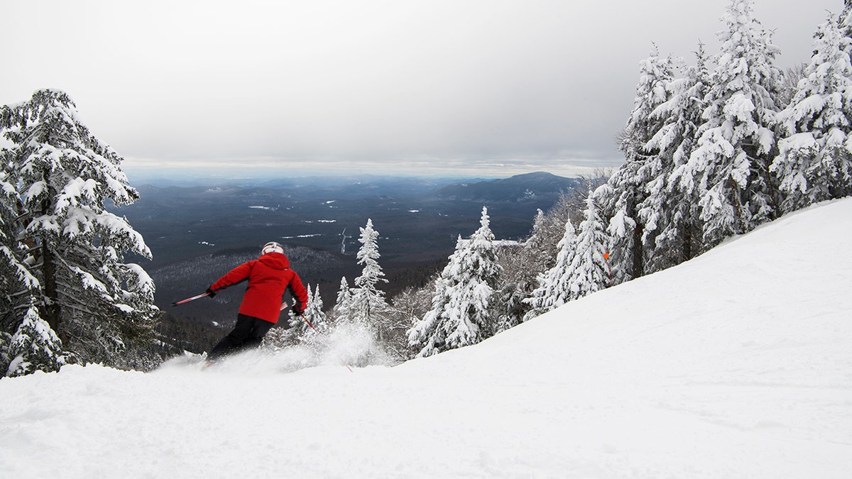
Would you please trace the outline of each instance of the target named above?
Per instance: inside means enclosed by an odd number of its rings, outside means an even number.
[[[849,2],[815,32],[814,55],[781,72],[771,32],[734,0],[721,50],[642,61],[619,147],[593,194],[618,280],[686,261],[725,238],[852,193]],[[680,75],[678,75],[680,73]]]

